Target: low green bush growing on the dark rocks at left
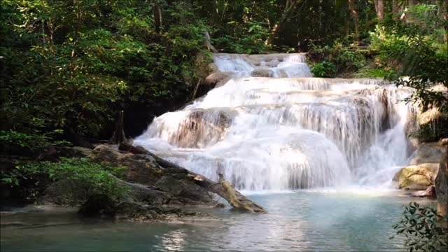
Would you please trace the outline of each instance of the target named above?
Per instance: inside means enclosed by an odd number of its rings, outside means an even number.
[[[64,187],[64,203],[82,206],[100,196],[107,202],[123,200],[128,188],[114,177],[122,176],[123,171],[122,167],[105,167],[86,158],[61,158],[58,162],[16,165],[12,171],[1,173],[1,183],[24,188],[29,182],[37,186],[49,181],[63,181],[70,185]]]

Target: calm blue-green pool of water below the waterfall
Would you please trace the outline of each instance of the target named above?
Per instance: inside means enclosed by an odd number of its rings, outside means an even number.
[[[250,195],[269,214],[209,210],[217,221],[131,223],[66,211],[1,214],[1,251],[403,251],[396,193],[296,191]]]

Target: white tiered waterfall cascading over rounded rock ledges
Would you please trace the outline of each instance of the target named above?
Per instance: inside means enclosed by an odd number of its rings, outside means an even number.
[[[239,189],[377,186],[407,160],[408,95],[383,80],[309,78],[303,54],[218,54],[232,78],[155,118],[136,144]],[[269,76],[269,77],[253,77]]]

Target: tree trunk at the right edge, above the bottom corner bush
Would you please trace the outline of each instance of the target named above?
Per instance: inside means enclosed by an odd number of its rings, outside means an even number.
[[[440,224],[448,228],[446,221],[448,218],[448,139],[443,139],[442,145],[446,146],[447,153],[440,160],[439,172],[435,179],[435,194],[437,195],[437,215],[442,217],[439,219]]]

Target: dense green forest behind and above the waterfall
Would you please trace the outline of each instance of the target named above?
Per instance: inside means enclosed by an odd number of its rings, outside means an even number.
[[[1,152],[105,139],[118,111],[125,111],[127,134],[140,134],[153,116],[193,99],[195,85],[209,71],[207,36],[219,52],[309,52],[315,76],[414,75],[401,84],[417,87],[416,99],[430,97],[447,109],[446,96],[426,92],[419,82],[447,85],[447,5],[442,0],[3,0]]]

